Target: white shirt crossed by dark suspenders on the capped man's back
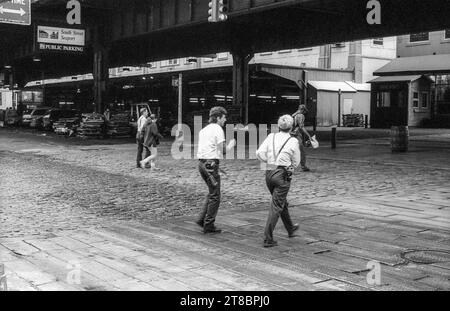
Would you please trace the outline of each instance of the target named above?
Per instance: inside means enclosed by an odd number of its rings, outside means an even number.
[[[289,137],[291,137],[291,135],[285,132],[269,134],[258,150],[256,150],[256,156],[261,161],[269,164],[269,166],[297,167],[300,164],[300,147],[297,138],[292,137],[280,152],[281,147]],[[275,152],[273,150],[274,139]]]

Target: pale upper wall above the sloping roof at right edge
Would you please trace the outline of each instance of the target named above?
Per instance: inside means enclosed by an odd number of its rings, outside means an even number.
[[[409,35],[397,37],[397,56],[411,57],[435,54],[450,54],[450,39],[445,38],[445,31],[429,33],[429,40],[410,42]]]

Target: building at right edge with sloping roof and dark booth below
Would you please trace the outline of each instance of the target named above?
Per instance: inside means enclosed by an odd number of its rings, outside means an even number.
[[[372,126],[450,126],[450,29],[399,36],[397,48],[371,81]]]

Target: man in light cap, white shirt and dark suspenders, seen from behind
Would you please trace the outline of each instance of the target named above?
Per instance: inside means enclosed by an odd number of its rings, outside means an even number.
[[[293,118],[284,115],[278,120],[279,133],[270,134],[256,151],[258,159],[267,164],[266,184],[272,195],[269,217],[264,230],[264,247],[278,245],[273,239],[273,230],[281,217],[289,237],[295,236],[298,224],[293,224],[289,215],[286,201],[291,176],[294,169],[300,164],[300,149],[298,140],[289,132],[292,129]]]

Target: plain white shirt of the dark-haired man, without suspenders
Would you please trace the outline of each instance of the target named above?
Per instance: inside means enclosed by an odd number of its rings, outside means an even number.
[[[223,150],[219,150],[219,144],[225,141],[225,133],[217,123],[205,126],[198,134],[199,159],[222,159]]]

